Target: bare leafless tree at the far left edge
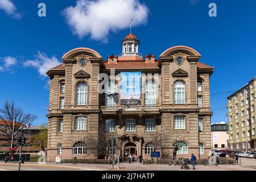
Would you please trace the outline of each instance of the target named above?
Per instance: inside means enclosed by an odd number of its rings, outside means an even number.
[[[0,133],[6,137],[7,141],[14,146],[13,138],[20,133],[20,130],[27,127],[36,119],[36,115],[24,114],[23,110],[16,107],[14,102],[6,101],[5,105],[0,109]]]

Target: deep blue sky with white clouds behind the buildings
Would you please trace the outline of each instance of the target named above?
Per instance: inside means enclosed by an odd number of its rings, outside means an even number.
[[[46,4],[46,17],[38,16],[40,2]],[[85,9],[97,9],[98,2]],[[256,75],[256,1],[139,2],[141,9],[127,9],[126,18],[115,15],[115,6],[104,6],[106,10],[72,24],[75,1],[0,0],[0,106],[13,100],[26,113],[38,115],[35,125],[47,122],[44,71],[76,47],[95,49],[105,60],[112,53],[118,55],[134,14],[133,33],[141,41],[143,56],[152,53],[158,58],[167,48],[184,45],[200,52],[201,62],[215,67],[210,78],[210,92],[216,94],[211,97],[212,123],[227,121],[226,97]],[[208,15],[210,2],[217,5],[217,17]],[[92,18],[97,15],[104,19],[97,22]],[[217,94],[222,92],[229,93]]]

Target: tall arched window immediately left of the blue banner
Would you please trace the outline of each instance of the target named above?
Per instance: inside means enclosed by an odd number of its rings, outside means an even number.
[[[117,98],[116,98],[117,97]],[[106,106],[116,106],[118,102],[117,84],[115,81],[109,81],[108,92],[105,94]]]

